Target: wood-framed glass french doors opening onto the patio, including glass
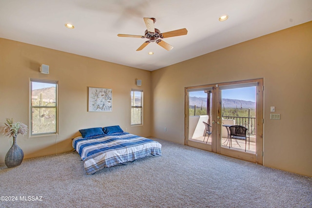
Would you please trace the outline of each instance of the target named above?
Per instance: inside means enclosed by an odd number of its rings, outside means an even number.
[[[262,121],[263,79],[185,88],[186,145],[262,164]],[[246,137],[232,138],[230,126]]]

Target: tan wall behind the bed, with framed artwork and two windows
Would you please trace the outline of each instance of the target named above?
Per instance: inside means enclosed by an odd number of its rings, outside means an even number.
[[[105,50],[105,49],[103,49]],[[120,57],[122,58],[122,57]],[[40,64],[50,74],[39,73]],[[0,122],[14,118],[29,126],[30,78],[59,81],[59,135],[18,136],[25,157],[72,150],[79,129],[120,125],[131,133],[150,136],[151,72],[0,38]],[[135,84],[142,80],[142,86]],[[113,90],[112,112],[87,112],[88,86]],[[144,91],[144,125],[130,126],[131,89]],[[11,141],[0,135],[0,163]],[[56,145],[57,144],[57,145]]]

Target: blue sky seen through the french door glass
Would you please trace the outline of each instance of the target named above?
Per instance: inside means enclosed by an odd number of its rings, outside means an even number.
[[[235,88],[230,90],[222,90],[222,98],[236,99],[236,100],[246,100],[255,102],[255,87],[245,87],[245,88]],[[192,97],[207,97],[204,91],[190,92],[189,96]]]

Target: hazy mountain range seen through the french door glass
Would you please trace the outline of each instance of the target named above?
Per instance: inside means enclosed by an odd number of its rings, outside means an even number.
[[[206,107],[207,106],[207,97],[189,97],[190,106],[196,105],[197,107]],[[227,99],[222,98],[222,108],[250,108],[255,109],[255,102],[245,101],[245,100],[236,100],[236,99]]]

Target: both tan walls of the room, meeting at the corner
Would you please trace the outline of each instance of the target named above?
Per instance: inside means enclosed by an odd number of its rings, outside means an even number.
[[[312,176],[311,37],[308,22],[152,73],[0,38],[0,122],[13,117],[29,126],[29,79],[58,80],[57,140],[19,135],[25,158],[70,151],[79,129],[109,125],[183,144],[184,87],[264,78],[264,165]],[[49,75],[39,73],[42,63]],[[113,112],[87,112],[88,86],[113,89]],[[143,126],[130,126],[132,88],[144,90]],[[281,120],[269,119],[270,106]],[[10,140],[0,135],[0,142],[1,163]]]

